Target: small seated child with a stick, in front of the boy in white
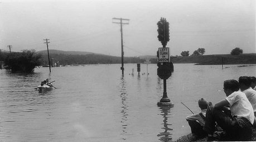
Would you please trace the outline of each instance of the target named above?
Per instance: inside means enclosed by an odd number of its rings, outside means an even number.
[[[206,135],[206,132],[202,128],[205,126],[205,115],[207,106],[209,104],[211,105],[211,102],[207,101],[204,98],[201,98],[198,101],[201,112],[197,115],[190,115],[186,117],[186,120],[190,125],[192,135],[196,135],[199,137]]]

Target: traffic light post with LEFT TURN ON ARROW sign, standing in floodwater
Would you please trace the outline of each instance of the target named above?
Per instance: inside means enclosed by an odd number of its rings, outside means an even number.
[[[171,63],[170,63],[170,49],[166,47],[167,42],[170,41],[169,36],[169,23],[165,18],[161,18],[157,22],[158,25],[158,40],[161,41],[163,47],[158,48],[157,57],[157,75],[163,80],[163,97],[160,102],[157,102],[158,106],[172,105],[170,99],[167,96],[166,80],[172,75]]]

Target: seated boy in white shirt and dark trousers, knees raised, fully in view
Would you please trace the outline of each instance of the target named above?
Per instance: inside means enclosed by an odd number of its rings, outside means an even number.
[[[212,139],[217,123],[226,132],[229,140],[250,141],[254,121],[252,105],[247,96],[239,91],[239,83],[236,80],[224,81],[224,92],[225,99],[207,108],[204,130],[208,139]],[[230,111],[231,115],[225,113],[226,111]]]

